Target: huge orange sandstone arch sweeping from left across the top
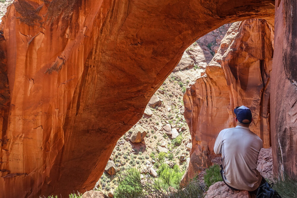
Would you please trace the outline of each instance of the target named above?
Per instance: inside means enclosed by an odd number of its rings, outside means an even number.
[[[16,0],[0,25],[0,197],[95,186],[184,50],[273,0]]]

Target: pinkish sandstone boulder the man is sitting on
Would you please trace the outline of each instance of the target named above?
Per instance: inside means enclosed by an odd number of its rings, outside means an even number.
[[[249,191],[233,191],[228,186],[225,185],[223,181],[218,181],[211,185],[206,192],[207,198],[218,198],[218,197],[228,197],[228,198],[252,198]]]

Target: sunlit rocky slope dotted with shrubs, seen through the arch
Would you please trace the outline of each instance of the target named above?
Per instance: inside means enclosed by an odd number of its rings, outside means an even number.
[[[149,164],[154,171],[158,171],[158,166],[154,163],[158,163],[156,158],[159,152],[167,153],[165,163],[170,167],[178,165],[181,171],[186,170],[192,143],[183,115],[182,97],[187,85],[205,71],[213,58],[212,49],[219,47],[220,38],[224,37],[230,26],[231,24],[225,24],[209,32],[185,50],[173,72],[149,101],[143,118],[117,142],[110,158],[115,163],[113,170],[130,167],[142,170]],[[136,132],[139,131],[144,131],[146,137],[141,137],[140,133],[137,136]],[[108,162],[106,171],[94,188],[106,195],[113,193],[117,187],[118,178],[110,174],[110,164]],[[145,176],[141,175],[143,179]]]

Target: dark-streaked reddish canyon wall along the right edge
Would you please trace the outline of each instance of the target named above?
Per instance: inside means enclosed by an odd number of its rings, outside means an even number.
[[[297,178],[297,5],[277,0],[271,86],[271,140],[274,172]]]

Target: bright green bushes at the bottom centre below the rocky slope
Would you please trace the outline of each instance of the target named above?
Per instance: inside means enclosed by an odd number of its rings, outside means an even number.
[[[178,171],[178,170],[177,170]],[[159,178],[149,177],[145,181],[140,180],[140,172],[136,169],[130,169],[125,172],[118,172],[118,187],[115,190],[115,198],[145,198],[145,197],[160,197],[160,198],[202,198],[203,189],[197,183],[191,182],[186,187],[181,188],[175,185],[176,189],[168,188],[172,186],[178,178],[174,169],[165,167],[162,175]],[[173,175],[173,176],[172,176]],[[172,179],[173,178],[173,179]],[[172,179],[172,180],[171,180]]]

